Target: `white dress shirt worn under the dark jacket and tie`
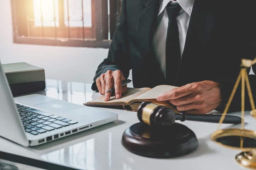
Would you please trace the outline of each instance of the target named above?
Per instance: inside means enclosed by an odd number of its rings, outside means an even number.
[[[192,8],[194,5],[194,0],[162,0],[158,15],[161,14],[164,10],[163,18],[159,22],[159,25],[157,26],[156,32],[153,36],[153,50],[156,54],[157,62],[161,67],[162,73],[164,77],[166,78],[166,73],[165,73],[165,45],[166,45],[166,37],[167,37],[167,29],[168,29],[168,15],[165,10],[165,7],[167,4],[172,1],[174,3],[179,3],[181,6],[180,13],[178,15],[177,19],[177,24],[178,24],[178,29],[179,29],[179,40],[180,40],[180,53],[182,56],[184,46],[185,46],[185,41],[186,41],[186,36],[187,36],[187,29],[188,29],[188,24],[190,21],[190,16],[192,12]]]

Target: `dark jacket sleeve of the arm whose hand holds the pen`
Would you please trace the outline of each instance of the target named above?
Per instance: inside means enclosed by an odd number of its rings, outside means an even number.
[[[93,78],[92,90],[98,91],[95,81],[101,74],[106,73],[107,70],[120,70],[124,77],[128,78],[131,64],[127,37],[126,0],[122,0],[122,11],[112,38],[109,53],[107,58],[100,63],[96,71],[95,77]]]

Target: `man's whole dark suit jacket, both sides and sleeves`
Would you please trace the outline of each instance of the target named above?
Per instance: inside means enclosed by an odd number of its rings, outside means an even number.
[[[122,12],[109,54],[99,65],[95,80],[107,70],[121,70],[128,77],[132,69],[134,87],[165,84],[152,50],[160,0],[122,0]],[[256,56],[255,0],[195,0],[185,49],[174,86],[211,80],[221,84],[225,107],[240,71],[241,58]],[[254,69],[256,72],[256,68]],[[249,72],[249,69],[248,69]],[[250,81],[256,99],[256,76]],[[240,109],[240,89],[230,111]],[[249,107],[249,104],[246,103]]]

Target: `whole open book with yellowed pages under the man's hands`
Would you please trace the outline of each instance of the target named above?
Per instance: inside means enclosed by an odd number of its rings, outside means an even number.
[[[157,101],[158,95],[168,92],[176,88],[175,86],[160,85],[154,88],[128,88],[126,94],[122,95],[121,99],[115,99],[115,96],[111,96],[109,101],[104,101],[104,96],[85,103],[85,106],[98,106],[98,107],[112,107],[122,106],[124,109],[129,111],[137,111],[140,104],[144,101],[150,101],[161,106],[168,106],[179,113],[175,109],[175,106],[170,105],[167,101]],[[116,107],[117,108],[117,107]]]

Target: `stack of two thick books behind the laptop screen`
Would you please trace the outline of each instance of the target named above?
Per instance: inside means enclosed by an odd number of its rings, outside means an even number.
[[[45,89],[45,70],[28,63],[3,64],[13,96]]]

